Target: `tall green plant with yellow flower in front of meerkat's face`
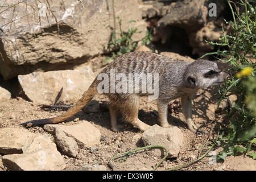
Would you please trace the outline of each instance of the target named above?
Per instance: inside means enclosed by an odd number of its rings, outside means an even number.
[[[217,59],[230,64],[230,78],[219,89],[221,97],[218,106],[224,98],[237,95],[236,104],[226,110],[229,125],[220,131],[220,137],[216,141],[219,146],[224,147],[217,158],[224,160],[227,155],[238,155],[241,152],[248,154],[256,144],[256,64],[248,59],[249,55],[254,59],[256,57],[256,9],[248,1],[241,0],[240,5],[245,7],[245,12],[240,13],[235,3],[234,12],[230,2],[228,1],[228,5],[233,21],[225,22],[231,24],[233,32],[226,35],[223,30],[219,42],[208,42],[219,46],[218,51],[205,54],[217,55]],[[255,151],[248,155],[256,158]]]

